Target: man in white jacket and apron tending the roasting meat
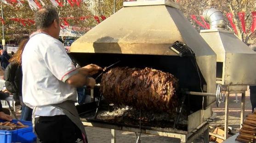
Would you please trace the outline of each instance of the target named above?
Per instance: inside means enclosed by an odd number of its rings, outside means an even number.
[[[86,143],[85,129],[74,106],[76,87],[93,88],[95,64],[76,69],[58,40],[60,22],[53,7],[34,15],[37,32],[22,55],[23,102],[33,108],[38,143]],[[83,140],[83,142],[81,141]]]

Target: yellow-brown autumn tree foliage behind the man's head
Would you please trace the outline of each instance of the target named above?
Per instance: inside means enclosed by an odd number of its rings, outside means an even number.
[[[50,0],[43,0],[46,5],[52,5]],[[71,7],[67,0],[61,0],[63,3],[63,7],[58,6],[57,11],[59,12],[60,17],[81,17],[88,16],[91,18],[85,19],[83,21],[79,19],[71,19],[67,20],[70,26],[83,26],[83,27],[93,27],[97,25],[97,22],[93,19],[93,15],[91,11],[88,9],[88,3],[82,2],[80,7],[74,5]],[[10,18],[30,18],[33,19],[34,11],[32,11],[28,5],[28,2],[25,1],[23,6],[11,6],[3,4],[4,11],[4,31],[5,31],[5,39],[8,40],[16,40],[22,39],[23,37],[28,37],[32,32],[35,31],[35,26],[23,26],[21,23],[16,21],[12,21]],[[63,20],[61,19],[63,23]],[[1,27],[2,29],[2,27]],[[2,35],[0,35],[2,38]]]

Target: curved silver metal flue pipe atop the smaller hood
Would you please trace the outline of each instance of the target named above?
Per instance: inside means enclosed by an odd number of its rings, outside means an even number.
[[[203,12],[203,16],[206,22],[210,23],[210,29],[224,29],[225,20],[222,11],[216,10],[215,8],[207,9]]]

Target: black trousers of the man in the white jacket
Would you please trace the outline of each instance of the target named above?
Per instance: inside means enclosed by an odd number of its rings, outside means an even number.
[[[66,116],[40,116],[35,118],[37,143],[80,143],[80,129]]]

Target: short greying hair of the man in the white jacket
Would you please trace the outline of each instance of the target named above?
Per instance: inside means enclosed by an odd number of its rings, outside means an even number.
[[[57,10],[52,6],[46,6],[34,14],[36,29],[46,29],[51,26],[54,20],[59,22]]]

